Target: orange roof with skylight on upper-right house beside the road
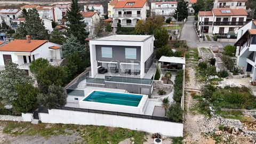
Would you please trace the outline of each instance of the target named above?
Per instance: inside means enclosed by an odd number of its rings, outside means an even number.
[[[222,13],[221,11],[228,10],[230,13]],[[248,15],[245,9],[229,9],[229,8],[219,8],[212,9],[214,15]]]

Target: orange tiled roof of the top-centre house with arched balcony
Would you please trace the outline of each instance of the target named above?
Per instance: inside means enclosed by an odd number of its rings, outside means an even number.
[[[119,1],[114,9],[122,9],[122,8],[141,8],[145,5],[147,0],[125,0]],[[133,5],[127,5],[127,3],[134,3]]]

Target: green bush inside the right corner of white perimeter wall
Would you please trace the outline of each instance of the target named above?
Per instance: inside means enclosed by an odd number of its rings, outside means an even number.
[[[173,122],[182,123],[183,110],[180,107],[180,103],[172,103],[166,114]]]

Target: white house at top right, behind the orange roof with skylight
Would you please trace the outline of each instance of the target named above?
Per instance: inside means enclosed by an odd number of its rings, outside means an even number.
[[[214,0],[213,8],[246,9],[247,0]]]

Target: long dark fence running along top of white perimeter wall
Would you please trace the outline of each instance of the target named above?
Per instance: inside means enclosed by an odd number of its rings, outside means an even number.
[[[87,112],[87,113],[108,114],[108,115],[116,115],[116,116],[128,116],[128,117],[137,117],[137,118],[145,118],[145,119],[154,119],[154,120],[158,120],[158,121],[174,122],[173,119],[167,118],[167,117],[121,113],[121,112],[117,112],[117,111],[106,111],[106,110],[95,110],[95,109],[84,109],[84,108],[73,108],[73,107],[57,107],[55,109],[82,111],[82,112]],[[174,123],[176,123],[176,122],[174,122]],[[180,123],[182,123],[182,122],[180,122]]]

